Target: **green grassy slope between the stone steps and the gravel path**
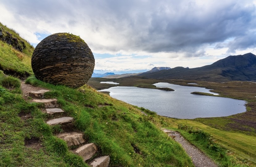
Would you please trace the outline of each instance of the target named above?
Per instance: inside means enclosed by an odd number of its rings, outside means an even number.
[[[75,128],[95,143],[102,155],[110,155],[111,166],[193,166],[175,141],[168,138],[138,108],[96,92],[87,85],[78,90],[54,86],[29,77],[27,83],[52,90],[46,98],[57,98],[61,108],[75,118]]]

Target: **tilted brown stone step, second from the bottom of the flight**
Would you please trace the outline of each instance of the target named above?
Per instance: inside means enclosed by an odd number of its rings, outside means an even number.
[[[93,143],[88,143],[80,146],[79,148],[73,150],[74,153],[77,153],[79,156],[83,158],[83,161],[90,159],[97,151],[98,148]]]

